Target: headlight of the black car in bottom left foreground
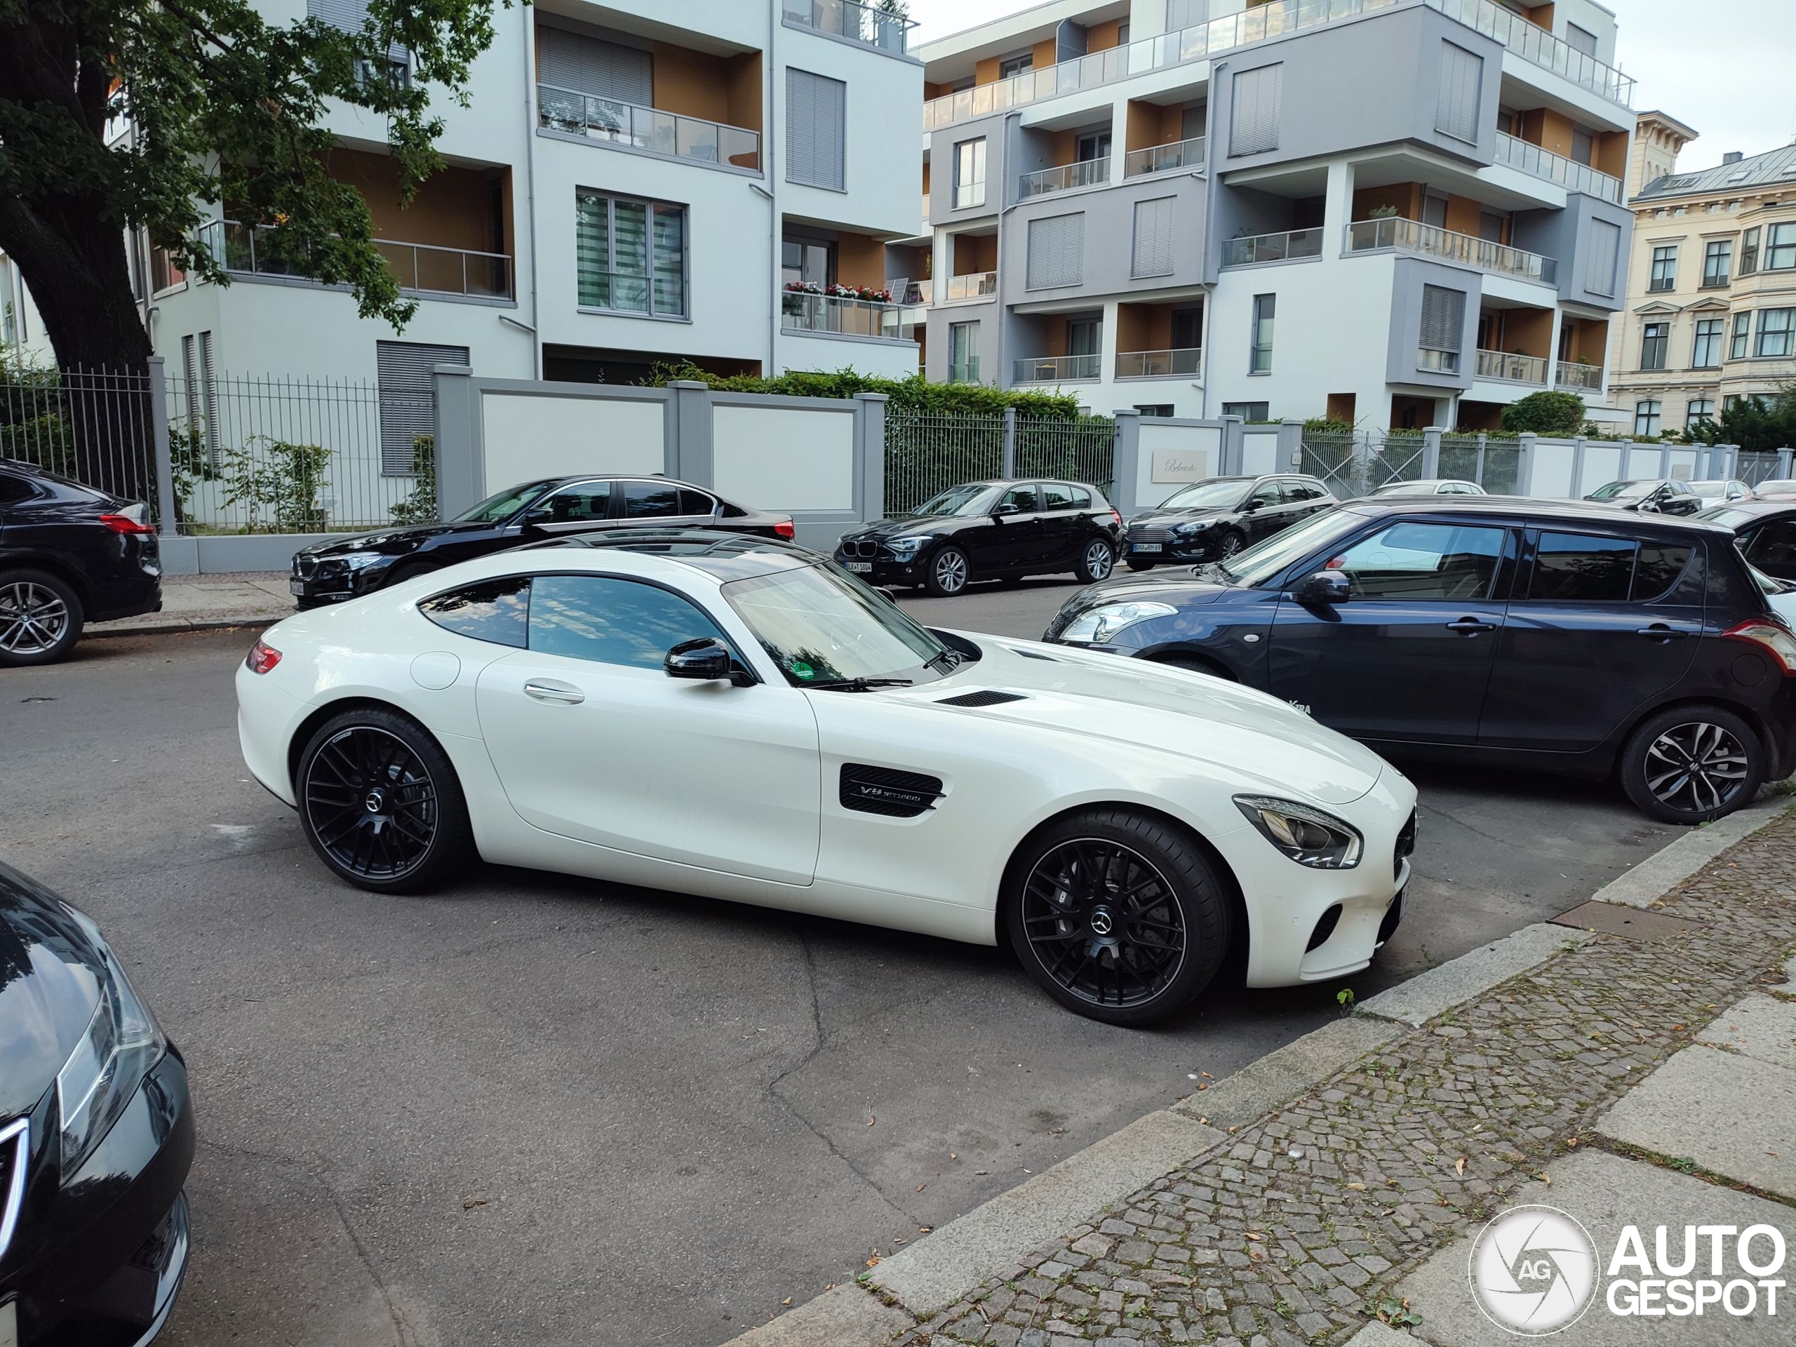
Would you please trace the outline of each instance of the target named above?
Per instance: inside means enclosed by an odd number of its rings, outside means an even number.
[[[86,1033],[56,1072],[56,1108],[63,1131],[63,1176],[74,1175],[124,1114],[136,1087],[169,1049],[156,1017],[131,988],[119,959],[92,921],[68,909],[101,952],[101,1004]]]

